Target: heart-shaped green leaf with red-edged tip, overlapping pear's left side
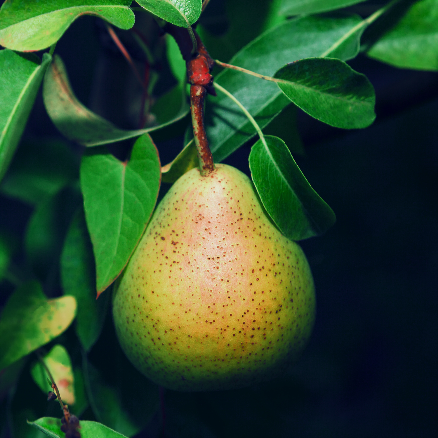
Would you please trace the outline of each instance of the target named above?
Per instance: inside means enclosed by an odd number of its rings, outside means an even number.
[[[81,187],[98,294],[119,276],[145,230],[158,196],[160,169],[148,134],[138,138],[127,162],[106,148],[89,149],[82,158]]]

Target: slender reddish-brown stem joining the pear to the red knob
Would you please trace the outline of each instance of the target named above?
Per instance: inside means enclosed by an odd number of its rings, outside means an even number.
[[[203,177],[214,169],[213,155],[208,146],[207,133],[204,127],[204,100],[207,90],[202,85],[190,86],[190,109],[192,116],[193,135],[198,150],[199,168]]]

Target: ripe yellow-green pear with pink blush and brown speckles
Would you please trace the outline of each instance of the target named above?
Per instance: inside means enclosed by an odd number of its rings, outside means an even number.
[[[314,316],[303,251],[271,223],[251,180],[224,164],[171,187],[113,299],[127,357],[180,391],[275,377],[303,350]]]

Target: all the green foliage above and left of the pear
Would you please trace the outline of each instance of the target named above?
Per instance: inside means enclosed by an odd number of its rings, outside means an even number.
[[[34,429],[25,428],[25,419],[38,414],[58,416],[41,398],[49,390],[46,367],[72,412],[78,417],[88,412],[88,418],[99,421],[81,420],[83,438],[132,436],[157,409],[158,389],[127,362],[106,320],[110,291],[97,301],[95,293],[110,288],[127,265],[152,215],[161,181],[173,183],[198,165],[187,119],[185,63],[176,42],[166,35],[161,56],[176,85],[151,100],[150,109],[141,108],[141,120],[149,122],[126,130],[79,102],[62,59],[54,54],[56,42],[84,14],[104,20],[109,31],[111,25],[132,29],[135,14],[147,14],[151,27],[167,21],[190,28],[201,16],[201,0],[131,3],[7,0],[0,9],[0,44],[5,47],[0,51],[0,188],[33,208],[23,266],[14,265],[14,244],[0,234],[0,279],[18,286],[0,319],[0,427],[8,427],[16,437],[37,436],[39,431],[63,436],[60,420],[52,417],[31,421]],[[358,3],[234,0],[227,5],[225,33],[212,34],[202,19],[197,26],[212,56],[238,67],[214,71],[218,88],[227,91],[206,102],[205,126],[214,160],[226,159],[260,135],[249,157],[254,185],[273,222],[293,240],[323,233],[335,221],[291,155],[300,151],[296,108],[339,128],[369,126],[375,117],[373,87],[346,64],[360,52],[397,67],[438,70],[438,0],[384,2],[367,18],[348,8],[333,13]],[[137,28],[136,35],[141,31]],[[137,41],[150,63],[155,62],[160,55],[144,39]],[[42,58],[29,53],[46,49]],[[155,82],[142,84],[147,95],[154,95]],[[69,141],[86,147],[80,162],[60,140],[23,141],[16,151],[41,84],[55,126]],[[161,157],[170,161],[161,166],[149,133],[178,136],[175,127],[181,120],[189,126],[182,151],[173,161]],[[275,120],[293,131],[288,134],[293,144],[265,135],[277,134],[272,132]],[[130,138],[137,140],[124,162],[104,146]],[[58,283],[62,296],[57,294]],[[73,330],[68,329],[74,319]],[[39,362],[32,356],[35,350]],[[105,373],[108,360],[117,364],[116,376]],[[41,389],[35,400],[42,408],[21,405],[28,392],[24,374]],[[129,390],[123,388],[123,376],[135,381]]]

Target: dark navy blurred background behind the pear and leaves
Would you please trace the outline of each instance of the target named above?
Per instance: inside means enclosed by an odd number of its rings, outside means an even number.
[[[118,112],[120,81],[132,74],[96,19],[74,22],[56,53],[78,98],[95,110],[107,102],[106,117],[130,127]],[[236,391],[166,391],[167,437],[436,436],[438,74],[363,55],[349,64],[376,90],[371,127],[343,131],[298,113],[305,154],[294,158],[337,215],[324,236],[300,243],[317,291],[310,343],[281,379]],[[152,133],[163,164],[180,150],[187,123],[173,139]],[[49,137],[61,138],[40,92],[23,138]],[[113,151],[124,155],[132,143]],[[225,162],[249,175],[250,148]],[[0,212],[2,230],[20,235],[32,208],[1,195]],[[2,283],[1,292],[4,303],[11,290]],[[160,418],[138,438],[158,436]]]

